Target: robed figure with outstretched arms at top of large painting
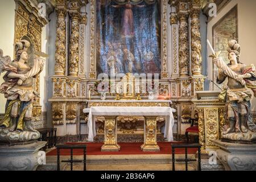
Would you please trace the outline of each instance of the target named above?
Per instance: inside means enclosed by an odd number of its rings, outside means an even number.
[[[113,5],[112,7],[124,7],[123,11],[123,25],[122,25],[122,35],[124,36],[134,36],[134,23],[133,23],[133,7],[144,7],[144,5],[131,5],[131,1],[128,1],[125,5]]]

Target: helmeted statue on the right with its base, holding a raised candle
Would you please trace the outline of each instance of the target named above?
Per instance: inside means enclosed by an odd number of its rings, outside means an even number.
[[[209,41],[208,41],[209,43]],[[210,45],[210,44],[209,44]],[[228,47],[229,64],[225,64],[220,52],[213,51],[213,63],[218,67],[217,83],[221,84],[228,79],[219,95],[219,99],[226,102],[226,121],[229,126],[222,132],[222,139],[236,140],[237,142],[254,142],[256,139],[256,125],[251,113],[252,93],[256,97],[255,67],[247,67],[240,61],[240,44],[236,40],[230,40]]]

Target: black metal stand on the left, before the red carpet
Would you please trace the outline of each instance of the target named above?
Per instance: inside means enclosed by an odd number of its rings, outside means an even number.
[[[73,171],[73,163],[81,163],[84,162],[84,171],[86,171],[86,145],[67,145],[67,144],[57,144],[57,171],[60,171],[60,150],[61,149],[70,149],[70,159],[69,160],[61,160],[63,163],[71,164],[71,171]],[[73,160],[73,150],[74,149],[83,149],[84,150],[84,160]]]

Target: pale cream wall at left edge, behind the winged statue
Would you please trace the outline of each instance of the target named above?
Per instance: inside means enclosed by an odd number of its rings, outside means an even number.
[[[3,50],[3,55],[10,56],[13,60],[14,50],[14,19],[15,19],[15,2],[13,0],[0,0],[0,48]],[[0,84],[3,82],[3,75],[0,76]],[[6,99],[3,94],[0,94],[0,113],[5,113]]]

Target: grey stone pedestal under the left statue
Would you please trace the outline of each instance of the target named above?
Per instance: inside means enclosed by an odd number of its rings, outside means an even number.
[[[47,142],[17,146],[0,145],[0,171],[35,171],[38,167],[39,150]]]

